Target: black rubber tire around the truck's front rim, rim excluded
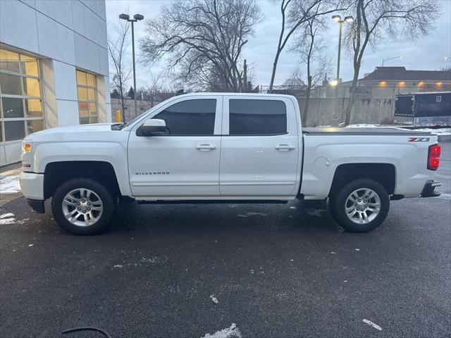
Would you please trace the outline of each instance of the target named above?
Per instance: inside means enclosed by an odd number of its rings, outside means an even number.
[[[80,188],[89,189],[97,194],[103,206],[99,219],[92,225],[80,226],[70,223],[63,213],[63,199],[66,194],[74,189]],[[82,235],[99,234],[100,232],[103,232],[111,223],[114,213],[114,198],[113,194],[103,184],[89,178],[74,178],[64,182],[56,189],[56,192],[51,199],[51,211],[54,214],[56,223],[68,232]]]

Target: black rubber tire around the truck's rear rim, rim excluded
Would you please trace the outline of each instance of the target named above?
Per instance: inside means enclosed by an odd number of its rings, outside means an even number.
[[[346,213],[347,198],[348,196],[350,196],[350,194],[352,194],[352,192],[358,189],[373,190],[373,192],[376,192],[381,201],[379,212],[374,213],[376,217],[373,218],[373,220],[370,220],[368,223],[364,224],[354,223],[352,220],[350,220],[350,218],[348,218]],[[360,201],[360,199],[358,199],[357,201]],[[350,205],[352,206],[352,204]],[[349,232],[369,232],[371,230],[376,229],[376,227],[378,227],[379,225],[381,225],[381,223],[383,223],[383,221],[387,217],[388,211],[390,210],[390,198],[388,196],[387,190],[385,189],[385,187],[383,187],[381,183],[375,180],[371,180],[369,178],[364,178],[354,180],[346,184],[344,187],[338,190],[338,192],[335,192],[335,194],[331,194],[329,199],[329,209],[330,215],[335,220],[335,222],[337,222],[345,230]],[[369,211],[367,211],[365,215],[367,215],[367,213],[370,215],[370,217],[373,214],[371,212],[371,209],[369,209]],[[358,218],[359,217],[358,214],[359,213],[357,212],[357,217],[354,216],[354,218]]]

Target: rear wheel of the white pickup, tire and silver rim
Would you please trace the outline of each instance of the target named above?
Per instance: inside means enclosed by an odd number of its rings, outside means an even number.
[[[354,180],[330,196],[330,214],[349,232],[369,232],[387,217],[390,199],[375,180]]]

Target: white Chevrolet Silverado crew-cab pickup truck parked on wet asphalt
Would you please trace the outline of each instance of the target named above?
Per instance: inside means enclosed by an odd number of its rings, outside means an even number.
[[[127,124],[58,127],[23,140],[20,186],[75,234],[104,230],[116,201],[328,201],[335,221],[367,232],[390,200],[438,196],[435,134],[396,128],[301,128],[293,96],[184,94]]]

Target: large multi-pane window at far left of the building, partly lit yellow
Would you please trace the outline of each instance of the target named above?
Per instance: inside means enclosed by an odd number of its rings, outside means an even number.
[[[0,49],[0,142],[44,129],[37,58]]]

